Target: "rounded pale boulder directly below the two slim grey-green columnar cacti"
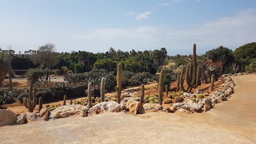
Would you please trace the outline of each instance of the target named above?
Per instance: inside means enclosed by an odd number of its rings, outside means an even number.
[[[92,108],[90,108],[88,111],[88,115],[101,114],[107,111],[119,112],[120,104],[118,104],[118,102],[115,101],[101,102],[99,104],[96,104],[95,106],[92,106]]]

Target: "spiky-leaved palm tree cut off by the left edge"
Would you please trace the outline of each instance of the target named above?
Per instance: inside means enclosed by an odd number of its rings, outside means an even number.
[[[8,70],[12,68],[12,57],[7,52],[0,52],[0,88]]]

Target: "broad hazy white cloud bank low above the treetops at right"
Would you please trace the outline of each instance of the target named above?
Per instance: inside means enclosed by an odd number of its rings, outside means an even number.
[[[221,45],[234,50],[246,43],[254,42],[255,23],[256,10],[247,9],[238,12],[236,16],[212,20],[185,30],[169,26],[106,28],[94,30],[85,36],[76,35],[73,38],[92,42],[96,44],[95,47],[114,46],[124,51],[166,47],[169,55],[190,54],[193,44],[196,43],[198,54],[204,54]]]

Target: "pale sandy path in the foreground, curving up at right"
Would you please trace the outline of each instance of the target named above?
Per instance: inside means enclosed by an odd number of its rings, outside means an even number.
[[[1,144],[256,144],[256,76],[206,113],[104,113],[0,127]]]

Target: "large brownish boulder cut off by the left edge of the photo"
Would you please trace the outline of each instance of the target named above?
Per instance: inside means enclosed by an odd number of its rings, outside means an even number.
[[[16,123],[17,116],[12,110],[0,110],[0,127]]]

